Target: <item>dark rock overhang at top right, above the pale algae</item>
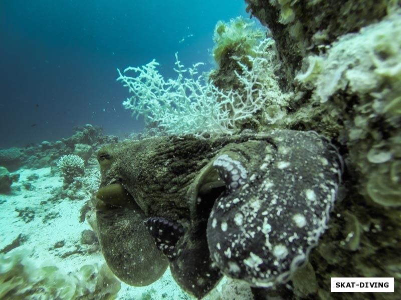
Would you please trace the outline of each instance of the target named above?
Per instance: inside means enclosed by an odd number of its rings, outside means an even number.
[[[246,0],[247,10],[269,27],[277,43],[282,76],[291,84],[302,58],[318,54],[342,34],[380,20],[397,0]]]

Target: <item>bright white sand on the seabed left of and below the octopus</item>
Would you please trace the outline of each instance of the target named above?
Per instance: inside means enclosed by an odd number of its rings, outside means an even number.
[[[55,192],[54,188],[63,184],[62,177],[51,174],[50,167],[34,170],[20,169],[17,172],[20,173],[20,179],[13,183],[13,192],[9,195],[0,194],[0,200],[5,200],[4,203],[0,204],[2,210],[0,248],[10,244],[22,233],[28,237],[22,246],[33,250],[33,258],[37,260],[38,265],[55,265],[65,272],[75,272],[85,264],[103,264],[105,261],[100,251],[92,254],[72,254],[66,258],[61,257],[64,253],[76,249],[75,245],[80,244],[83,230],[91,229],[86,221],[79,222],[80,210],[87,198],[83,200],[66,198],[56,202],[49,201],[52,192]],[[39,178],[28,180],[28,177],[33,174],[37,174]],[[96,179],[94,178],[94,180]],[[33,190],[27,190],[24,187],[23,184],[26,182],[33,185]],[[47,201],[47,203],[41,204],[42,201]],[[25,222],[22,217],[19,217],[19,212],[15,210],[25,207],[35,211],[34,218],[29,222]],[[58,213],[58,215],[54,219],[44,221],[45,216],[49,213]],[[64,246],[54,248],[54,245],[60,241],[64,241]],[[230,280],[228,283],[226,281],[223,280],[205,299],[251,299],[250,290],[246,285],[241,287],[235,284],[236,288],[233,288],[233,281]],[[241,293],[243,295],[240,295]],[[122,283],[117,299],[139,300],[145,298],[146,294],[150,295],[146,299],[153,300],[194,299],[180,289],[172,279],[168,269],[158,281],[148,286],[134,287]]]

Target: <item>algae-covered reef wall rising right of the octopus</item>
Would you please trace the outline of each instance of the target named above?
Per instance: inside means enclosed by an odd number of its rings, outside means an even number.
[[[346,163],[343,196],[310,264],[291,288],[255,289],[255,295],[395,299],[401,294],[399,1],[247,2],[274,38],[282,90],[293,92],[275,126],[325,135]],[[330,293],[330,277],[394,277],[394,293]]]

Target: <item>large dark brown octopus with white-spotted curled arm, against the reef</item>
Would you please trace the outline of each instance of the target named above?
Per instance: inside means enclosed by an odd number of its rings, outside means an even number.
[[[291,279],[328,226],[337,149],[314,131],[125,140],[97,154],[98,236],[122,281],[169,266],[197,298],[222,276],[269,288]]]

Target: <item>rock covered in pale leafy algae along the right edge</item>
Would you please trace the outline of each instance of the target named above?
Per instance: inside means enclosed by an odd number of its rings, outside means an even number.
[[[308,56],[308,68],[296,77],[323,103],[353,95],[343,138],[361,173],[361,192],[384,206],[401,205],[400,20],[396,11],[342,36],[325,55]]]

